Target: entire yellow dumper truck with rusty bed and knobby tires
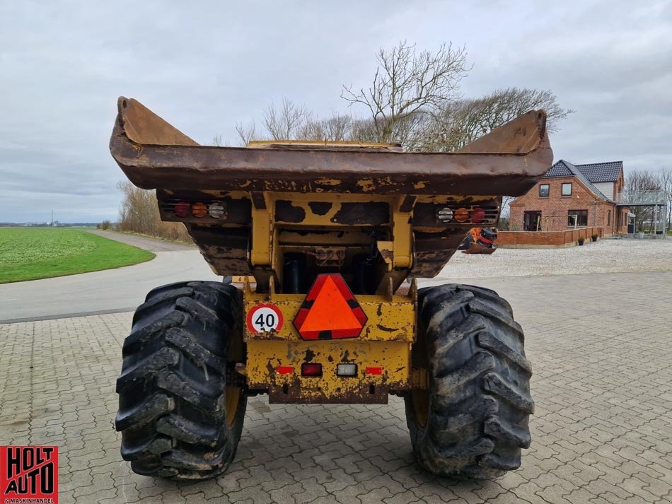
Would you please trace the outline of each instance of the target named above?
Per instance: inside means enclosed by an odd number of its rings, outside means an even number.
[[[548,170],[545,113],[455,153],[398,144],[200,146],[120,98],[110,151],[164,221],[184,223],[224,281],[151,291],[117,380],[122,457],[204,479],[231,463],[249,396],[386,404],[403,397],[417,461],[462,478],[516,469],[530,444],[530,364],[509,303],[486,288],[417,288],[502,195]],[[231,283],[231,276],[241,277]]]

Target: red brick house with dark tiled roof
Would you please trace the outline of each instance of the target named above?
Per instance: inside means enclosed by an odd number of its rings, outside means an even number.
[[[511,201],[511,230],[564,231],[603,228],[603,236],[627,233],[630,209],[621,203],[623,163],[572,165],[561,159],[530,191]]]

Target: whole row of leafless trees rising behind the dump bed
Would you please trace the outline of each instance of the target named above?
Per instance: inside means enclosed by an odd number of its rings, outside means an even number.
[[[343,86],[349,105],[364,105],[366,117],[314,117],[303,105],[284,98],[264,112],[262,138],[325,141],[398,142],[406,151],[455,151],[528,110],[543,108],[548,128],[573,111],[560,107],[550,90],[506,88],[482,98],[460,98],[469,67],[463,47],[444,43],[436,52],[418,52],[400,42],[376,55],[369,88]],[[255,125],[236,127],[243,145],[257,138]]]

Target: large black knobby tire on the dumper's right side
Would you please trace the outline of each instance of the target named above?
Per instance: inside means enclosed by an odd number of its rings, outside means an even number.
[[[494,291],[458,284],[422,289],[418,306],[412,361],[421,378],[405,399],[417,461],[458,479],[519,468],[534,403],[511,306]]]

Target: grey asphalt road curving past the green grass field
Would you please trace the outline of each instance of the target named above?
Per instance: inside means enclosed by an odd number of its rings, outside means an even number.
[[[0,285],[0,323],[129,311],[165,283],[221,281],[195,247],[109,231],[96,234],[152,250],[156,258],[123,268]],[[171,250],[162,252],[162,250]]]

